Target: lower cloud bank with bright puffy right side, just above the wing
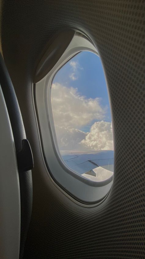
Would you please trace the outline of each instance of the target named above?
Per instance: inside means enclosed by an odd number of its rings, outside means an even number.
[[[113,149],[112,124],[95,122],[90,132],[71,127],[55,126],[60,150],[110,150]]]

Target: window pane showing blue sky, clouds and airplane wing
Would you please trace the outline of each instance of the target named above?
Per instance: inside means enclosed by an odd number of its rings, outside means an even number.
[[[51,107],[65,164],[92,180],[113,175],[113,133],[107,86],[96,54],[82,51],[55,74]]]

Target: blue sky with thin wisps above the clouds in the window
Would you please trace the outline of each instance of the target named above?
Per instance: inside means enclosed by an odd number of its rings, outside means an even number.
[[[105,76],[101,60],[97,55],[87,51],[77,54],[57,72],[53,83],[77,88],[80,95],[86,98],[101,98],[100,105],[108,107],[104,121],[111,122]],[[89,131],[95,121],[80,130]]]

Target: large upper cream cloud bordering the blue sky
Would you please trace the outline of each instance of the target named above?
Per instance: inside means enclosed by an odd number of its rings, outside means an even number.
[[[103,120],[107,107],[102,107],[100,98],[89,98],[78,93],[77,88],[52,85],[51,105],[54,123],[58,126],[80,129],[93,120]]]

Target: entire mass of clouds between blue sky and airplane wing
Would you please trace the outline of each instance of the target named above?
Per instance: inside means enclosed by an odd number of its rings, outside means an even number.
[[[52,85],[51,105],[60,150],[113,149],[112,124],[103,121],[107,107],[100,102],[100,98],[87,99],[73,87]],[[91,126],[90,132],[80,130],[94,120],[99,122]]]

